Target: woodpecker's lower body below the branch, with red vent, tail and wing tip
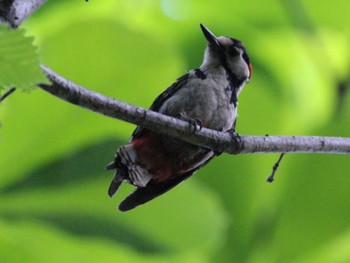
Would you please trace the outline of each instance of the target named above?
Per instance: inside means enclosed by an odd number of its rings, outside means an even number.
[[[137,186],[119,209],[127,211],[167,192],[190,177],[214,154],[211,150],[147,131],[119,148],[114,164],[117,173],[109,188],[113,196],[123,180]]]

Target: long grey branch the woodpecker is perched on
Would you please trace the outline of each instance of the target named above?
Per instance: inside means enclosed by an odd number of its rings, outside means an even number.
[[[85,89],[41,66],[52,85],[39,84],[43,90],[65,101],[108,117],[124,120],[155,132],[215,151],[238,153],[333,153],[350,154],[350,138],[317,136],[241,136],[203,128],[193,133],[193,125],[154,111],[146,110]]]

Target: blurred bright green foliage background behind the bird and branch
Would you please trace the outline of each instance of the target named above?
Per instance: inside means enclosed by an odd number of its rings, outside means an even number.
[[[238,132],[349,136],[350,1],[48,1],[21,27],[68,79],[149,107],[201,64],[204,23],[243,41]],[[350,262],[350,160],[223,154],[116,209],[105,171],[133,125],[37,89],[0,107],[0,262]]]

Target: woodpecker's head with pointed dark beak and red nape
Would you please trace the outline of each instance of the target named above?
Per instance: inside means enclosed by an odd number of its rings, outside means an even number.
[[[208,46],[201,67],[226,67],[237,79],[249,81],[252,65],[241,41],[231,37],[216,37],[207,27],[200,24]]]

